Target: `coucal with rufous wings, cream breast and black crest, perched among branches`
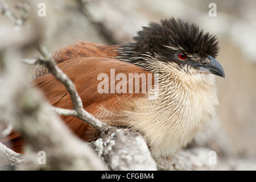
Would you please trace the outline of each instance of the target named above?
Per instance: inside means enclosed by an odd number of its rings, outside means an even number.
[[[86,111],[108,125],[138,131],[152,156],[159,158],[175,154],[216,114],[215,75],[225,77],[214,59],[219,49],[216,36],[204,34],[195,24],[170,18],[150,22],[133,43],[102,46],[80,41],[54,52],[53,57],[74,82]],[[119,73],[121,77],[117,77]],[[40,76],[35,79],[36,86],[53,106],[73,108],[63,84],[46,70],[36,74]],[[146,82],[142,75],[147,76]],[[137,78],[139,83],[129,84]],[[143,92],[148,80],[152,88],[158,82],[154,97],[149,90]],[[63,120],[81,139],[91,141],[99,136],[76,117]],[[22,137],[15,132],[2,142],[17,152],[22,149]]]

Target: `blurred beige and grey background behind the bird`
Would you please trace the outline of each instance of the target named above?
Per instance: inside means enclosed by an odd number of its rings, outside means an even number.
[[[26,1],[7,1],[10,7],[16,2]],[[132,42],[132,37],[149,21],[159,22],[172,16],[196,23],[205,32],[217,35],[221,46],[217,60],[226,75],[225,79],[217,78],[220,106],[212,127],[199,134],[193,144],[208,146],[219,155],[256,156],[256,1],[40,2],[46,5],[46,16],[39,18],[44,23],[40,41],[49,51],[75,43],[75,40],[105,45]],[[209,7],[210,3],[216,4],[216,16],[209,15],[213,8]],[[31,7],[31,11],[39,9]],[[32,21],[30,18],[28,24]],[[0,24],[0,40],[5,44],[5,30],[13,24],[5,16],[0,16]],[[38,53],[29,48],[24,50],[23,56],[35,58]]]

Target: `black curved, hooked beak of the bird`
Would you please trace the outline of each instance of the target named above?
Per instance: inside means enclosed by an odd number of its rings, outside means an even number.
[[[213,75],[221,76],[225,78],[224,69],[221,64],[212,56],[207,55],[207,58],[201,61],[200,64],[195,64],[194,67],[198,68],[201,73],[212,73]]]

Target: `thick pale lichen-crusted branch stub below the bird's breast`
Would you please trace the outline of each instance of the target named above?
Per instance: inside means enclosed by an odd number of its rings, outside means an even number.
[[[92,142],[94,150],[112,170],[156,170],[141,134],[130,129],[116,129]]]

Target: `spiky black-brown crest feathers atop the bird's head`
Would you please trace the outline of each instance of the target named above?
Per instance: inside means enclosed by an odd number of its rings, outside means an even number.
[[[217,57],[219,50],[215,36],[209,35],[208,32],[204,34],[203,30],[200,31],[195,24],[184,23],[174,18],[163,19],[160,23],[150,22],[133,39],[135,43],[123,46],[130,51],[130,54],[125,56],[126,58],[140,56],[143,53],[157,53],[158,55],[173,53],[167,47],[172,47],[176,49],[175,51],[183,49],[191,54],[199,56],[208,54],[212,57]]]

